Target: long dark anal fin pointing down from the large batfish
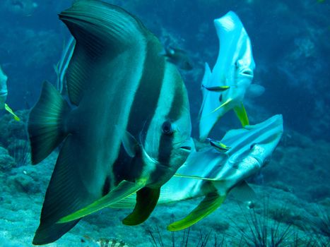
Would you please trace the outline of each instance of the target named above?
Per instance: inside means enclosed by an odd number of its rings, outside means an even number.
[[[33,244],[52,243],[59,239],[74,227],[79,219],[66,224],[57,224],[57,221],[102,196],[101,192],[94,195],[88,193],[82,179],[78,176],[79,169],[86,166],[84,163],[86,159],[81,157],[80,150],[78,141],[69,135],[61,147],[47,188],[40,225],[35,232]],[[96,179],[99,179],[98,176]],[[99,191],[102,189],[99,188]]]

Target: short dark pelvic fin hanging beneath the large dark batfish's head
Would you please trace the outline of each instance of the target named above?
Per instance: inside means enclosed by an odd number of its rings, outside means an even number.
[[[133,212],[123,219],[123,224],[135,226],[148,219],[155,208],[160,195],[160,188],[141,188],[136,193],[136,205]]]

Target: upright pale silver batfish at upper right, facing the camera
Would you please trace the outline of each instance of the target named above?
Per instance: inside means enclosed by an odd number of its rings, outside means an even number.
[[[220,48],[213,70],[206,63],[201,90],[199,138],[205,140],[216,122],[234,109],[242,126],[249,124],[243,106],[245,92],[252,85],[254,59],[249,36],[240,18],[229,11],[214,20]],[[255,86],[257,87],[257,86]]]

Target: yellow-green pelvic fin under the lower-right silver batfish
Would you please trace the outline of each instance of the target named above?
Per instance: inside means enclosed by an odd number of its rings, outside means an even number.
[[[208,193],[204,200],[192,210],[187,217],[167,226],[169,231],[179,231],[191,227],[201,219],[214,212],[225,200],[225,195],[219,195],[216,192]]]

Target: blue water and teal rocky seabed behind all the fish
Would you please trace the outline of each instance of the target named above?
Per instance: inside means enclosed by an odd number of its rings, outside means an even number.
[[[259,196],[253,210],[229,197],[216,212],[191,227],[188,237],[187,231],[185,236],[183,231],[175,233],[175,246],[185,246],[182,239],[188,239],[186,246],[249,246],[242,239],[253,235],[250,226],[254,224],[266,224],[269,236],[272,227],[279,236],[285,234],[280,246],[329,246],[329,1],[109,2],[134,13],[163,43],[170,40],[191,56],[193,70],[181,73],[189,92],[194,137],[198,134],[204,63],[208,61],[212,67],[218,56],[213,19],[228,11],[240,16],[249,34],[257,64],[254,83],[266,89],[260,97],[244,100],[250,123],[283,114],[281,143],[270,164],[249,181]],[[0,65],[8,76],[6,102],[21,119],[17,122],[4,111],[0,113],[0,246],[32,246],[39,223],[57,154],[31,165],[25,123],[42,82],[55,84],[57,80],[54,65],[69,39],[57,14],[71,3],[0,1]],[[220,140],[232,128],[240,128],[240,122],[230,112],[211,135]],[[105,209],[84,218],[49,246],[98,246],[98,239],[112,237],[128,246],[172,246],[172,236],[165,230],[169,215],[178,219],[194,205],[196,200],[179,206],[159,205],[138,227],[122,225],[127,210]],[[157,243],[150,240],[153,236]]]

